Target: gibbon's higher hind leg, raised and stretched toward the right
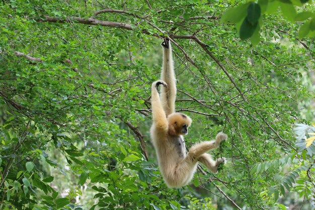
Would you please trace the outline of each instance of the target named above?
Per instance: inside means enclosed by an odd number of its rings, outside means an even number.
[[[208,152],[209,150],[213,150],[219,147],[220,143],[227,139],[227,135],[225,133],[219,132],[215,140],[210,142],[201,142],[192,146],[188,152],[188,156],[193,160],[197,160],[202,154]]]

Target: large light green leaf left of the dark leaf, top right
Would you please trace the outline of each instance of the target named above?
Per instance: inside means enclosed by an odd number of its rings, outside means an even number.
[[[223,13],[221,21],[224,23],[230,22],[232,24],[240,22],[247,15],[247,8],[249,4],[240,5],[229,8]]]

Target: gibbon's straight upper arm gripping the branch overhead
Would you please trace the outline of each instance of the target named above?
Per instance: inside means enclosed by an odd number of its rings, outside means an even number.
[[[163,67],[161,79],[168,84],[168,88],[161,88],[161,101],[166,116],[175,112],[176,100],[176,79],[174,74],[174,64],[172,56],[172,46],[169,39],[165,39],[163,46]]]

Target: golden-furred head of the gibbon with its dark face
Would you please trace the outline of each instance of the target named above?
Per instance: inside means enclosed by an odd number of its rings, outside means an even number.
[[[186,135],[191,124],[191,118],[186,114],[173,113],[168,116],[169,134]]]

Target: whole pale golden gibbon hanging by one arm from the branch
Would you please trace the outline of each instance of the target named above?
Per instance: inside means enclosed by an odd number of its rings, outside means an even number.
[[[187,185],[190,182],[198,162],[216,173],[218,165],[225,162],[225,158],[214,161],[206,152],[217,148],[227,138],[227,135],[220,132],[214,141],[196,144],[186,154],[183,135],[188,133],[192,120],[185,114],[175,112],[177,90],[172,46],[168,39],[161,45],[163,46],[162,80],[153,82],[151,87],[153,124],[150,135],[164,180],[168,187],[173,188]],[[161,97],[157,92],[159,85],[163,85]]]

